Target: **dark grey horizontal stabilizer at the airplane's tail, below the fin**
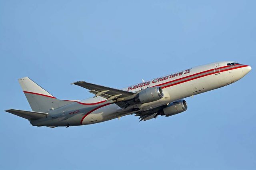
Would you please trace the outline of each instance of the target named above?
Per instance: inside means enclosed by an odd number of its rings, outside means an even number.
[[[36,120],[40,119],[42,117],[46,117],[48,113],[42,113],[42,112],[32,112],[32,111],[21,111],[21,110],[15,110],[15,109],[9,109],[6,110],[8,113],[12,113],[14,115],[17,115],[19,117],[23,117],[28,120]]]

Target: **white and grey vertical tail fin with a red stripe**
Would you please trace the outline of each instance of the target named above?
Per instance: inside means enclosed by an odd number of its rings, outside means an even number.
[[[19,83],[32,111],[44,113],[70,104],[69,101],[56,99],[56,97],[48,93],[28,77],[19,79]]]

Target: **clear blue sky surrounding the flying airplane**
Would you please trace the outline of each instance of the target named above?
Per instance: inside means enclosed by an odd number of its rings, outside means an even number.
[[[0,169],[255,169],[255,9],[255,0],[0,0]],[[122,88],[225,60],[252,71],[187,98],[172,117],[47,128],[4,112],[31,110],[20,77],[86,99],[70,83]]]

